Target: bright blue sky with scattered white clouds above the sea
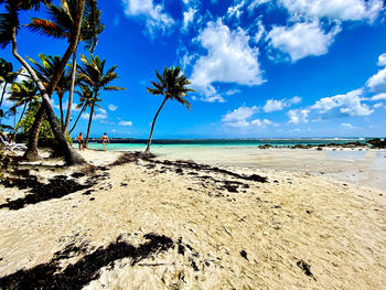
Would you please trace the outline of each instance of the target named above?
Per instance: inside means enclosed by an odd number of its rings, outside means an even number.
[[[164,66],[181,66],[195,92],[186,97],[191,110],[167,101],[156,139],[385,136],[383,0],[99,0],[98,6],[106,28],[94,55],[106,58],[107,67],[117,65],[119,78],[111,85],[126,90],[100,93],[93,137],[148,138],[163,99],[146,88]],[[22,23],[32,17],[47,14],[24,13]],[[40,53],[63,55],[67,45],[25,28],[18,42],[20,54],[35,61]],[[81,53],[88,56],[83,46]],[[0,56],[21,67],[10,45]],[[56,112],[57,104],[54,96]],[[74,135],[85,133],[87,121],[85,114]]]

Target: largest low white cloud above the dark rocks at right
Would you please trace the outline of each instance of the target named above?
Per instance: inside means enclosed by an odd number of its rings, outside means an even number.
[[[311,109],[317,110],[322,116],[368,116],[374,112],[367,105],[362,103],[363,89],[355,89],[345,95],[321,98]]]

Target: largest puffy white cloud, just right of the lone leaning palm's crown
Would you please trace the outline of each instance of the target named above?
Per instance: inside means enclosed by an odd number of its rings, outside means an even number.
[[[258,49],[249,46],[249,36],[242,29],[230,31],[222,23],[210,22],[197,37],[207,50],[193,65],[193,88],[205,97],[217,95],[213,83],[259,85],[265,80],[258,63]]]

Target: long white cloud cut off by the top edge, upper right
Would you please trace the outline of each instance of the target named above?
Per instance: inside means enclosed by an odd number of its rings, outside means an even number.
[[[294,15],[342,21],[373,22],[383,8],[382,0],[279,0],[279,3]]]

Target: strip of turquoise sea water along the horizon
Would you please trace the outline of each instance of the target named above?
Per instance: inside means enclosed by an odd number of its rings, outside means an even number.
[[[369,139],[369,138],[368,138]],[[271,144],[278,147],[287,147],[294,144],[329,144],[329,143],[347,143],[360,141],[365,143],[365,138],[313,138],[313,139],[225,139],[225,140],[154,140],[152,148],[197,148],[197,147],[257,147],[260,144]],[[111,140],[111,143],[107,144],[109,151],[136,151],[144,150],[144,140],[130,140],[130,143],[115,143],[118,140]],[[77,147],[77,143],[74,143]],[[97,142],[89,142],[90,149],[103,150],[103,144]]]

